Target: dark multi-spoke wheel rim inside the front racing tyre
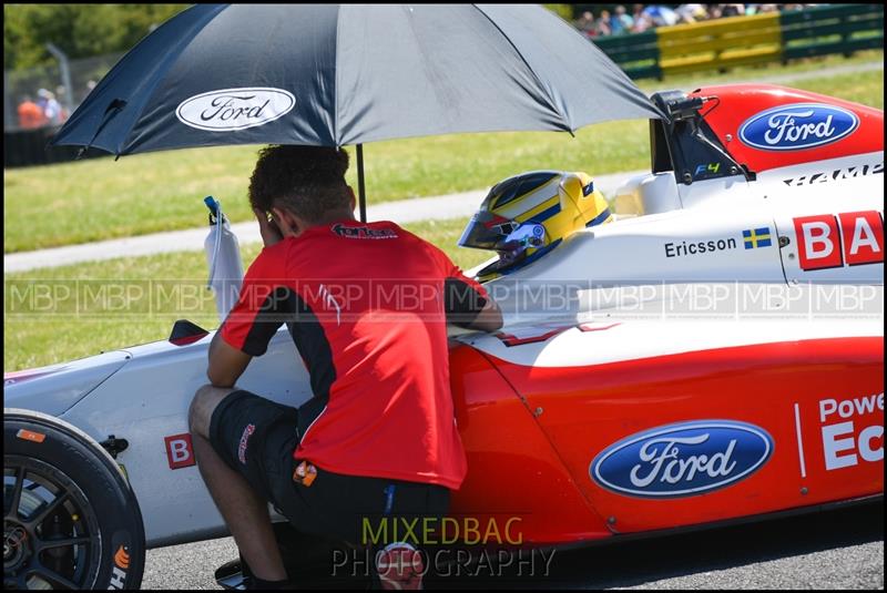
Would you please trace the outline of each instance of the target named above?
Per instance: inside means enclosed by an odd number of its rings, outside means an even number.
[[[101,560],[92,505],[64,472],[3,457],[3,587],[91,589]]]

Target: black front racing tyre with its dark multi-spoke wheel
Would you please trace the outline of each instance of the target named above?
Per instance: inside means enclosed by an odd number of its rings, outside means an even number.
[[[82,430],[3,409],[3,589],[137,589],[142,513],[111,456]]]

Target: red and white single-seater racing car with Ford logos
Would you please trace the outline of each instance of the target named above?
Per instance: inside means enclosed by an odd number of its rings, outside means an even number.
[[[476,268],[506,326],[451,337],[452,512],[522,545],[883,498],[883,112],[768,85],[652,99],[650,173],[542,256]],[[4,374],[4,586],[136,587],[147,548],[227,533],[186,425],[212,335]],[[308,401],[295,359],[282,329],[241,385]]]

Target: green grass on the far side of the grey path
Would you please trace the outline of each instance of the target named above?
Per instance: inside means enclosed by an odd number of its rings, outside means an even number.
[[[812,69],[883,61],[883,52],[845,60],[808,60],[788,67],[736,69],[665,81],[641,88],[679,88],[791,74]],[[847,81],[837,84],[835,81]],[[883,106],[881,72],[810,79],[792,85]],[[202,225],[200,200],[213,194],[230,217],[248,219],[247,180],[257,146],[193,149],[96,159],[3,171],[3,252],[86,243]],[[365,146],[370,203],[488,187],[522,171],[579,170],[594,174],[649,166],[645,121],[608,122],[563,133],[455,134],[379,142]],[[349,174],[354,184],[354,172]]]

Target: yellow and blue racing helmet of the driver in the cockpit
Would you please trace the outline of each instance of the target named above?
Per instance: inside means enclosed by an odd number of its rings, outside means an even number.
[[[478,274],[486,282],[536,262],[579,229],[610,221],[606,201],[587,173],[532,171],[490,190],[459,245],[499,253]]]

